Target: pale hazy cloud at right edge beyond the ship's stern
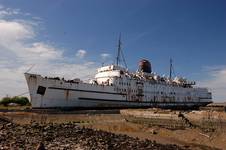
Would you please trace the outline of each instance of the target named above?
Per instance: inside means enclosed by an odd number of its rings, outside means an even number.
[[[199,84],[210,88],[214,101],[226,101],[226,66],[205,67],[208,78]]]

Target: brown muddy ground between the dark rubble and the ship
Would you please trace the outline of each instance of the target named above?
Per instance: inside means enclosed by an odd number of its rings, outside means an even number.
[[[0,112],[18,124],[75,122],[80,126],[140,139],[155,140],[162,144],[190,146],[192,149],[226,149],[226,131],[204,132],[200,129],[169,130],[127,122],[120,114],[46,114],[33,112]]]

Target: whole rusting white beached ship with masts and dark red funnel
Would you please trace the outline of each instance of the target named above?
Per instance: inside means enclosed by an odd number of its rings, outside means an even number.
[[[185,78],[172,78],[172,61],[169,77],[153,73],[146,59],[139,62],[136,72],[130,72],[119,63],[120,40],[117,51],[116,63],[98,68],[90,82],[25,73],[32,108],[193,108],[212,102],[207,88],[194,87],[195,82]]]

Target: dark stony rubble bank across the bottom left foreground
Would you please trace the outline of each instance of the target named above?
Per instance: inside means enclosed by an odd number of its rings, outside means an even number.
[[[41,148],[40,148],[41,145]],[[163,145],[126,135],[79,127],[75,123],[16,125],[0,122],[0,149],[162,149],[188,147]]]

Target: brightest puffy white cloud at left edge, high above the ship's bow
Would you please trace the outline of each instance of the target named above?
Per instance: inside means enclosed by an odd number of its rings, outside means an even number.
[[[0,19],[1,57],[16,57],[27,63],[45,62],[62,57],[62,51],[44,42],[28,42],[36,37],[34,27],[30,24]]]

